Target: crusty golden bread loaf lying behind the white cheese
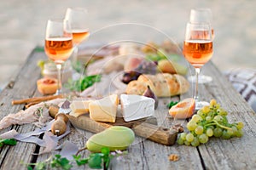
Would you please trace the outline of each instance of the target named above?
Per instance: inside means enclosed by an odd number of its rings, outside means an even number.
[[[137,80],[128,83],[126,94],[143,95],[149,86],[157,97],[169,97],[184,94],[189,90],[189,82],[180,75],[159,73],[141,75]]]

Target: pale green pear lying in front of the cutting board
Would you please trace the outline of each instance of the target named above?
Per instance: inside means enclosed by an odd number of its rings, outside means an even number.
[[[86,147],[91,152],[101,152],[103,147],[108,147],[110,151],[125,150],[134,139],[135,134],[131,128],[113,126],[91,136],[86,142]]]

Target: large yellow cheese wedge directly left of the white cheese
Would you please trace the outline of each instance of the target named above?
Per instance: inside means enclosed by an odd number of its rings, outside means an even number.
[[[117,94],[90,102],[90,118],[98,122],[115,122],[119,99]]]

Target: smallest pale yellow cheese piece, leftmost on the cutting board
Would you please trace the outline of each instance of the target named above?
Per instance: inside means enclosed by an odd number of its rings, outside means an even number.
[[[74,113],[89,113],[89,104],[92,100],[73,100],[70,109]]]

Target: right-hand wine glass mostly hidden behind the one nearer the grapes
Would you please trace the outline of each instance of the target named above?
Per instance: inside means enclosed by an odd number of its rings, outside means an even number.
[[[189,21],[191,23],[204,23],[207,22],[210,26],[212,26],[212,10],[210,8],[194,8],[190,10],[190,18]],[[214,38],[214,31],[212,28],[212,40]],[[195,76],[191,76],[188,78],[190,82],[195,82]],[[199,75],[198,83],[207,83],[212,82],[212,77],[206,75]]]

